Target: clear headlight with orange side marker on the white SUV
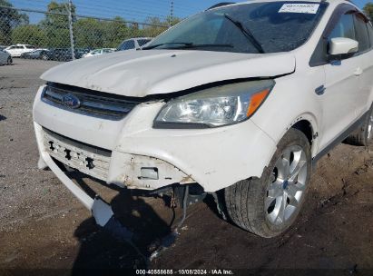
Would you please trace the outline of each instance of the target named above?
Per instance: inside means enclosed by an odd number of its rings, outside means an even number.
[[[227,84],[176,98],[154,121],[155,128],[206,128],[250,118],[270,94],[273,80]]]

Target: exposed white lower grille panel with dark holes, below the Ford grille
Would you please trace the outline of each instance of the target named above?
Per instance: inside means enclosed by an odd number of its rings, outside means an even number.
[[[44,149],[61,163],[107,181],[112,152],[44,130]]]

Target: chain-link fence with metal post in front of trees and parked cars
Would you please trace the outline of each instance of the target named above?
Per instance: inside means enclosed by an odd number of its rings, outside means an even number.
[[[169,27],[158,18],[145,23],[98,18],[76,15],[68,4],[55,5],[48,11],[0,5],[0,50],[13,58],[70,61],[139,48]]]

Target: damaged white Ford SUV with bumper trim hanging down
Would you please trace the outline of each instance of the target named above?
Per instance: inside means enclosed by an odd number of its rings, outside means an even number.
[[[100,225],[110,207],[62,164],[128,189],[198,183],[232,222],[274,237],[297,218],[312,164],[346,138],[372,138],[373,28],[346,1],[214,7],[143,51],[62,64],[42,79],[39,167]]]

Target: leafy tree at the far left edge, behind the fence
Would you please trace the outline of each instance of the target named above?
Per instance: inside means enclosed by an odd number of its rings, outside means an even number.
[[[0,0],[0,5],[13,7],[6,0]],[[12,8],[0,8],[0,44],[9,45],[12,43],[12,31],[19,25],[27,25],[29,22],[28,16],[20,14]]]

